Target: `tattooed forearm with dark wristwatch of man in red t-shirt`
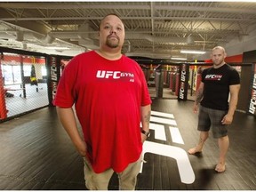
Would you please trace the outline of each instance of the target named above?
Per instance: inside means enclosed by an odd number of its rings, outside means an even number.
[[[145,132],[149,132],[150,114],[151,114],[151,105],[141,107],[140,121],[142,124],[142,130],[144,130]],[[144,142],[145,140],[147,140],[147,136],[141,133],[141,141]]]

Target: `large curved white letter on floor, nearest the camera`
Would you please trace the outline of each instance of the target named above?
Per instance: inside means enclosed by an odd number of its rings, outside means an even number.
[[[181,182],[191,184],[195,181],[195,174],[189,162],[187,152],[184,149],[146,140],[143,144],[143,159],[146,153],[174,158],[178,165]],[[141,163],[140,172],[142,172],[142,167],[143,162]]]

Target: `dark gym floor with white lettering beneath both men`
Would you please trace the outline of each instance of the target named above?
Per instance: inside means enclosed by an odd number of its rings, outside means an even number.
[[[187,153],[198,140],[192,105],[191,101],[153,100],[152,134],[144,151],[147,163],[136,189],[255,190],[256,118],[236,112],[228,130],[227,170],[216,173],[218,145],[212,135],[201,156]],[[83,161],[61,127],[55,108],[0,124],[0,150],[1,190],[85,189]],[[109,189],[117,186],[114,174]]]

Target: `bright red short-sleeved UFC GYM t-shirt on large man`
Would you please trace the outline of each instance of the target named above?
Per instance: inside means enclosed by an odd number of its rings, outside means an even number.
[[[107,60],[84,52],[64,69],[53,100],[71,108],[84,132],[94,172],[122,172],[140,157],[140,107],[151,104],[144,74],[134,60]]]

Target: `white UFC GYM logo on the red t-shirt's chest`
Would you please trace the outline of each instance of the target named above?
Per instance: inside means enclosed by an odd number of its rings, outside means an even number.
[[[98,70],[96,77],[101,79],[134,82],[134,74],[130,72]]]

